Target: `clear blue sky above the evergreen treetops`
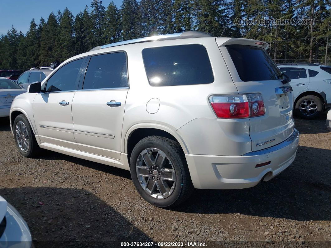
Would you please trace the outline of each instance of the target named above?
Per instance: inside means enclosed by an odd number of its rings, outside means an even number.
[[[103,0],[102,4],[107,7],[111,1]],[[114,3],[119,8],[122,0],[114,0]],[[32,18],[38,24],[41,17],[47,20],[52,11],[56,14],[66,7],[76,16],[85,5],[91,9],[91,0],[1,0],[0,34],[6,34],[12,25],[25,34]]]

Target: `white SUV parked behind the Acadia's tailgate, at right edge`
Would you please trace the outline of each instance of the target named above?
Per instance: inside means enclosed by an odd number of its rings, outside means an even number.
[[[311,63],[278,64],[290,79],[294,109],[304,119],[315,119],[331,108],[331,67]]]

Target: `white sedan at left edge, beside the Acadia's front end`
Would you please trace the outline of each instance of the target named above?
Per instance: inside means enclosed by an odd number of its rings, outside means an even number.
[[[14,81],[0,77],[0,117],[9,116],[10,106],[14,98],[25,92],[26,90]]]

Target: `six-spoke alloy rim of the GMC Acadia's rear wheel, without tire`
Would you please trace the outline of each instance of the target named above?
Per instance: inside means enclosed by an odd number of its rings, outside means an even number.
[[[150,196],[164,199],[176,186],[176,173],[166,154],[157,148],[143,150],[136,162],[141,187]]]

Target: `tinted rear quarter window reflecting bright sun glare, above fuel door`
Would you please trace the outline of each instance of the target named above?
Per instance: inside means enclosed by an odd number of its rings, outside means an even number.
[[[145,48],[142,55],[152,86],[206,84],[214,81],[212,66],[203,45]]]

